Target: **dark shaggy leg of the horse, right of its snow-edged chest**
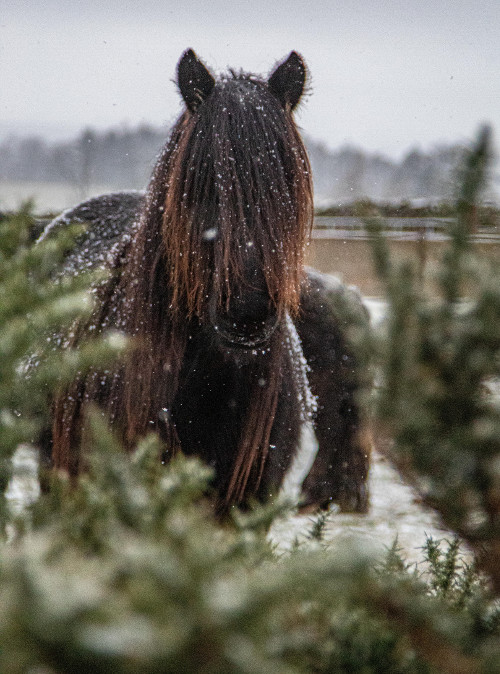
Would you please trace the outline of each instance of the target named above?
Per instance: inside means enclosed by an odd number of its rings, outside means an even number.
[[[318,453],[303,483],[304,508],[336,503],[344,512],[366,512],[368,436],[356,401],[356,363],[321,284],[304,294],[297,330],[310,366],[309,383],[318,399]]]

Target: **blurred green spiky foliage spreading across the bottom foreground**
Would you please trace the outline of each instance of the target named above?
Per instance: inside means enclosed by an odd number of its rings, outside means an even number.
[[[96,413],[89,434],[88,475],[57,478],[4,549],[1,671],[494,671],[477,621],[432,583],[374,573],[354,542],[276,558],[279,504],[221,527],[197,461],[165,469],[154,438],[124,458]]]

